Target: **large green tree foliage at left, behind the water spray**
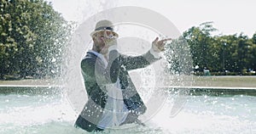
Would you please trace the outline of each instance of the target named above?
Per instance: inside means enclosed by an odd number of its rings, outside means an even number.
[[[0,79],[60,75],[67,21],[43,0],[0,1]]]

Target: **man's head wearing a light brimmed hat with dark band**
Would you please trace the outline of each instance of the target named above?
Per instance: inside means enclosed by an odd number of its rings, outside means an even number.
[[[93,40],[93,49],[102,54],[108,53],[108,42],[118,37],[113,31],[113,23],[109,20],[100,20],[96,23],[95,31],[90,33]]]

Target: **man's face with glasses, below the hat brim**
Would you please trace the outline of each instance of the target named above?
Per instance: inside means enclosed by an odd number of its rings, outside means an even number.
[[[106,39],[108,37],[115,36],[113,31],[99,31],[92,36],[94,45],[100,50],[102,54],[108,53],[108,45],[106,45]]]

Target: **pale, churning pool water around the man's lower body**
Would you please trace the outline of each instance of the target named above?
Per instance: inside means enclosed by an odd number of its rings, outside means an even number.
[[[255,96],[188,95],[183,109],[170,116],[173,98],[170,94],[146,126],[120,126],[104,133],[256,133]],[[87,133],[73,127],[76,117],[61,92],[0,93],[1,134]]]

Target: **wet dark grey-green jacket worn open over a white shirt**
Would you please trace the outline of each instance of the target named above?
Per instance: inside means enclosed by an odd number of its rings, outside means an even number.
[[[105,68],[102,60],[99,60],[94,53],[87,52],[81,62],[81,69],[88,101],[79,114],[75,126],[86,131],[96,129],[98,122],[102,119],[108,98],[105,85],[115,83],[118,77],[127,109],[137,116],[145,113],[147,108],[132,83],[128,70],[144,68],[156,60],[158,59],[154,59],[154,55],[149,51],[141,56],[131,57],[120,55],[117,50],[112,50],[109,52],[108,66]]]

